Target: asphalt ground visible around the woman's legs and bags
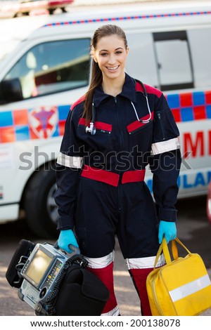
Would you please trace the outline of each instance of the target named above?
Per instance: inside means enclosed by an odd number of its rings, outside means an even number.
[[[178,202],[177,237],[192,253],[200,254],[211,275],[211,225],[206,217],[205,206],[205,197]],[[34,237],[25,226],[24,220],[0,225],[0,229],[0,316],[34,315],[32,308],[18,298],[17,289],[9,286],[5,273],[20,239],[29,239],[34,243],[45,241]],[[185,254],[184,249],[179,248],[179,255]],[[115,249],[114,274],[115,292],[121,315],[140,315],[139,299],[118,244]],[[211,315],[211,310],[203,315]]]

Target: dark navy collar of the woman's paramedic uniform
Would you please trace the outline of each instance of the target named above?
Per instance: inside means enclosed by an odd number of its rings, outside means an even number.
[[[130,101],[136,103],[136,90],[135,90],[135,81],[127,73],[125,73],[125,81],[122,88],[122,92],[118,95],[128,98]],[[94,105],[98,107],[103,100],[106,98],[112,98],[111,95],[108,95],[103,92],[102,86],[98,86],[94,90]]]

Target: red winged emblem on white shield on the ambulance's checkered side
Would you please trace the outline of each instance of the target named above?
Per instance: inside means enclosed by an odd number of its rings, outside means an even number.
[[[38,138],[52,136],[57,124],[57,107],[37,107],[30,111],[30,128]]]

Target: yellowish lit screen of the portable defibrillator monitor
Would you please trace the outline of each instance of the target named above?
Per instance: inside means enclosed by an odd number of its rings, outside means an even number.
[[[34,255],[34,258],[32,258],[30,264],[25,270],[25,275],[27,275],[28,280],[30,282],[32,281],[32,284],[35,286],[39,286],[46,270],[51,264],[51,261],[51,256],[48,256],[46,253],[44,253],[44,251],[38,249]]]

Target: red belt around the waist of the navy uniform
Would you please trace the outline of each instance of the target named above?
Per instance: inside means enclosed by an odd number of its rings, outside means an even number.
[[[101,181],[103,183],[108,183],[108,185],[113,185],[117,187],[120,181],[120,175],[110,171],[97,169],[96,167],[91,167],[84,165],[81,176],[83,178],[89,178],[91,180]],[[136,171],[126,171],[122,174],[122,183],[140,182],[144,180],[145,169]]]

